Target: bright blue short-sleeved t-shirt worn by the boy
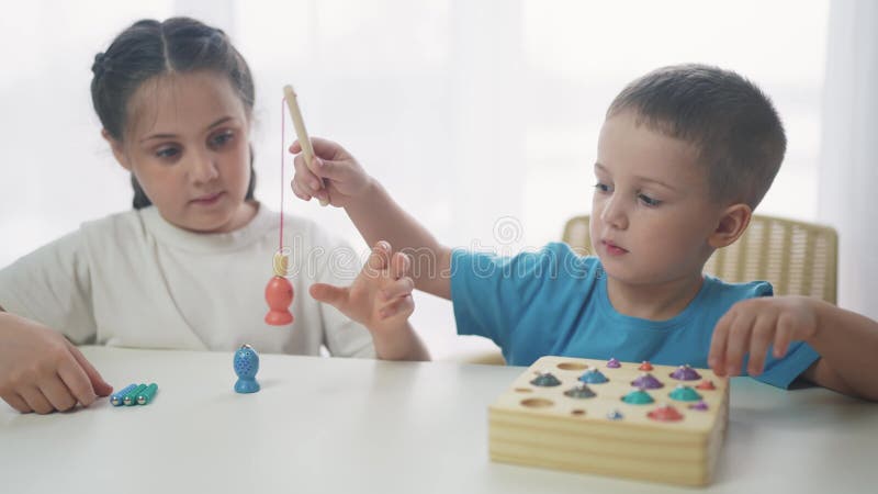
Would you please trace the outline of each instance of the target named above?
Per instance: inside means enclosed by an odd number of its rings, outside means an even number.
[[[600,260],[578,256],[566,244],[515,257],[459,249],[451,256],[458,333],[491,338],[514,366],[555,355],[707,368],[720,317],[738,301],[772,294],[765,281],[725,283],[705,276],[683,312],[649,321],[616,312]],[[765,370],[755,379],[787,388],[819,357],[803,341],[790,345],[783,359],[769,350]]]

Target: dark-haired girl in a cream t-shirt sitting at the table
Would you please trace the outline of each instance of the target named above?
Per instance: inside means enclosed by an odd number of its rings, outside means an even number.
[[[407,258],[380,243],[353,279],[352,250],[302,218],[284,218],[295,321],[263,322],[280,215],[254,199],[254,81],[222,31],[184,18],[139,21],[92,71],[101,132],[131,172],[134,209],[0,271],[0,397],[48,413],[110,394],[70,341],[428,358],[408,324]],[[365,328],[302,296],[306,281]]]

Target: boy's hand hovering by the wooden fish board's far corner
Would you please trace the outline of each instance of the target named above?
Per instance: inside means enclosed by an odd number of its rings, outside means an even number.
[[[758,375],[768,346],[774,357],[787,353],[792,341],[809,340],[818,329],[817,310],[807,296],[764,296],[732,305],[713,329],[708,364],[717,375],[739,375],[750,352],[747,374]]]

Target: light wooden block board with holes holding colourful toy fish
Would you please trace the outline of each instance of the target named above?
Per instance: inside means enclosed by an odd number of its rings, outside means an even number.
[[[663,388],[642,390],[650,404],[629,404],[622,397],[631,382],[644,374],[640,362],[542,357],[516,379],[488,407],[488,442],[495,461],[624,476],[685,485],[706,485],[724,438],[729,417],[729,380],[709,369],[694,369],[700,379],[671,377],[675,366],[653,366],[649,371]],[[593,397],[570,397],[565,391],[597,369],[608,381],[586,384]],[[531,382],[549,372],[559,385]],[[696,389],[710,381],[716,389]],[[669,397],[678,384],[701,395],[698,401]],[[690,391],[690,390],[687,390]],[[693,408],[698,402],[698,406]],[[669,405],[682,418],[663,422],[648,414]],[[699,409],[699,406],[701,409]],[[706,407],[706,409],[703,409]]]

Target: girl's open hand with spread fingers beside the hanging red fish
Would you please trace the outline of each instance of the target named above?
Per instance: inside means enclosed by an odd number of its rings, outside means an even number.
[[[408,316],[415,311],[412,300],[415,282],[407,276],[410,268],[406,255],[393,254],[391,245],[382,240],[373,247],[353,284],[342,288],[314,283],[311,296],[331,304],[373,336],[391,336],[407,327]]]

